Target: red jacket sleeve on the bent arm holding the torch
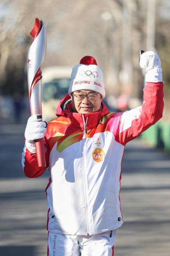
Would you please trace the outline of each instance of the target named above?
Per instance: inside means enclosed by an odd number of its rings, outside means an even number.
[[[38,167],[36,153],[31,153],[26,146],[23,148],[22,153],[22,168],[24,174],[29,178],[36,178],[42,175],[46,168],[49,167],[49,147],[47,141],[44,140],[46,167]]]

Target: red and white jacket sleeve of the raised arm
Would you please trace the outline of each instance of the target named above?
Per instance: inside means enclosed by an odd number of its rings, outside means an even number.
[[[141,132],[154,125],[163,115],[164,83],[147,82],[143,89],[143,104],[122,113],[116,141],[125,145],[135,139]]]

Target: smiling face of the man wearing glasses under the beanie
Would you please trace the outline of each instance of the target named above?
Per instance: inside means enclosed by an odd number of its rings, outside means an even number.
[[[72,99],[72,107],[74,112],[88,114],[88,113],[97,112],[100,110],[102,96],[96,91],[79,90],[79,91],[74,91],[73,94],[71,95],[71,99]],[[87,96],[90,96],[90,98],[91,97],[94,98],[96,96],[96,100],[90,100],[87,97],[84,97],[83,100],[78,101],[77,99],[81,98],[80,95],[87,95]]]

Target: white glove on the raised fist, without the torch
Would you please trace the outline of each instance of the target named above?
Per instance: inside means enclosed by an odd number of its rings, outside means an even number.
[[[152,52],[140,51],[140,67],[147,71],[145,76],[146,82],[162,82],[162,68],[159,56]]]

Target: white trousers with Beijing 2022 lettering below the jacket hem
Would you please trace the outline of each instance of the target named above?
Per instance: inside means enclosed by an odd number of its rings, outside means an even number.
[[[92,236],[48,233],[47,256],[113,256],[116,230]]]

